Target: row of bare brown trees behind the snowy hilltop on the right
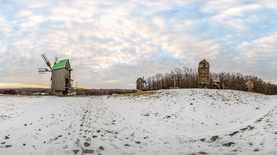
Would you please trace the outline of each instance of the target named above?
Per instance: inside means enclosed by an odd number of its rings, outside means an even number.
[[[211,77],[219,77],[221,88],[233,90],[245,90],[245,83],[251,80],[254,84],[253,91],[268,95],[277,95],[277,85],[265,82],[257,76],[246,75],[241,73],[210,73]],[[198,70],[196,68],[183,67],[175,68],[170,73],[158,73],[155,76],[146,79],[146,90],[169,89],[174,87],[180,88],[198,88]],[[212,78],[211,78],[212,79]],[[210,82],[212,83],[212,81]],[[210,86],[212,88],[212,85]]]

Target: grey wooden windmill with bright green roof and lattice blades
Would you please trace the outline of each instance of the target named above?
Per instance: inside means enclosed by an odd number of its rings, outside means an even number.
[[[70,66],[69,60],[61,60],[55,57],[54,65],[51,67],[49,60],[46,55],[43,54],[42,59],[46,65],[50,68],[38,68],[39,74],[45,74],[45,72],[51,72],[49,88],[52,89],[54,95],[67,95],[68,91],[73,89],[71,79],[71,71],[73,69]]]

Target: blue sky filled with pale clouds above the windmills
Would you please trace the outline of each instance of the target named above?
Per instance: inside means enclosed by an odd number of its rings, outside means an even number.
[[[197,68],[277,83],[277,1],[0,0],[0,88],[48,88],[41,58],[69,59],[74,85],[135,88]]]

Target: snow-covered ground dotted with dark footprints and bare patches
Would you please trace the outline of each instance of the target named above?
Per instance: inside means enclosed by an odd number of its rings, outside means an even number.
[[[0,96],[0,154],[277,153],[277,96]]]

